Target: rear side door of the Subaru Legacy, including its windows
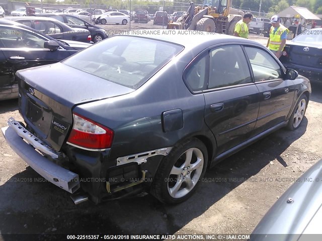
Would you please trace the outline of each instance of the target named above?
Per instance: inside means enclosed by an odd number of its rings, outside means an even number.
[[[203,66],[206,66],[206,74]],[[216,138],[217,153],[246,141],[255,128],[259,91],[241,46],[210,49],[195,62],[189,75],[186,81],[192,83],[195,91],[203,91],[204,119]],[[206,84],[203,84],[204,78]]]

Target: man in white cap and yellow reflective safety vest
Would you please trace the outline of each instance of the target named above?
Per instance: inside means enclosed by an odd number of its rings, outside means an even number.
[[[271,18],[272,27],[270,29],[270,37],[267,41],[266,47],[275,54],[277,58],[281,57],[282,51],[286,44],[286,38],[289,30],[280,24],[280,18],[274,15]]]

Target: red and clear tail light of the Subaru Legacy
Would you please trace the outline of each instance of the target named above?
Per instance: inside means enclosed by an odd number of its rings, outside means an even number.
[[[112,146],[114,132],[91,119],[73,113],[74,124],[67,143],[85,149],[106,149]]]

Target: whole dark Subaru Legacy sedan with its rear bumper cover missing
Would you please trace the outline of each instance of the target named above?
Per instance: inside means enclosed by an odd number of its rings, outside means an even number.
[[[10,118],[3,134],[58,187],[95,203],[143,190],[182,202],[207,168],[301,124],[310,82],[263,45],[135,33],[17,72],[24,122]]]

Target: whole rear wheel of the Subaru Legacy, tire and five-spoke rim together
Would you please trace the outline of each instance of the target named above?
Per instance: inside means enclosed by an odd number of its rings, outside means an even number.
[[[199,165],[195,166],[196,163]],[[188,139],[176,145],[163,158],[150,193],[163,203],[183,202],[196,190],[206,172],[207,163],[207,148],[198,139]]]

